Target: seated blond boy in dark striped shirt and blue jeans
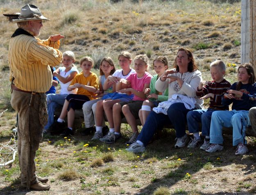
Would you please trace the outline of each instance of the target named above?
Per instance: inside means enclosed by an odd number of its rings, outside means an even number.
[[[187,114],[188,131],[193,133],[194,138],[188,144],[188,148],[200,146],[205,150],[210,145],[211,115],[214,111],[229,110],[228,106],[222,105],[222,95],[226,93],[231,84],[223,77],[226,66],[221,60],[216,60],[210,65],[211,78],[213,81],[201,81],[197,87],[197,98],[210,98],[208,109],[193,110]],[[199,122],[202,123],[202,135],[205,136],[204,143],[199,135]]]

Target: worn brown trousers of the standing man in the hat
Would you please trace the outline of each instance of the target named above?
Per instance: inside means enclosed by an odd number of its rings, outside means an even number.
[[[39,121],[39,94],[29,106],[31,94],[13,91],[11,106],[18,112],[18,157],[20,165],[20,181],[22,186],[38,183],[34,158],[43,137],[43,126]]]

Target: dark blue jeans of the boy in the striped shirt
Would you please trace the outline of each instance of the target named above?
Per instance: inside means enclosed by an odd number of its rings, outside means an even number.
[[[211,115],[215,109],[201,109],[189,111],[187,114],[189,133],[199,132],[199,122],[202,123],[202,135],[210,135]]]

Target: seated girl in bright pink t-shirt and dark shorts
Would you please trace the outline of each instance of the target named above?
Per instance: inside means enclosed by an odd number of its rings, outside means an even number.
[[[136,140],[138,136],[136,119],[139,119],[138,112],[141,109],[143,101],[146,100],[144,91],[146,88],[149,88],[150,80],[152,78],[152,75],[146,72],[148,64],[149,59],[147,58],[147,55],[137,55],[134,59],[134,69],[136,73],[129,75],[126,79],[120,79],[116,84],[116,91],[127,93],[128,95],[133,93],[134,98],[129,102],[118,102],[113,105],[114,126],[110,126],[110,128],[114,128],[115,131],[109,132],[109,134],[104,137],[104,139],[100,139],[100,141],[111,144],[121,137],[120,126],[122,114],[133,131],[127,144]]]

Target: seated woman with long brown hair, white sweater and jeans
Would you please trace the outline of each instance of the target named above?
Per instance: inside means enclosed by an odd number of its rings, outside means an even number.
[[[197,86],[201,80],[201,72],[197,70],[192,53],[180,48],[174,61],[174,69],[166,70],[155,85],[157,91],[164,91],[168,87],[168,101],[162,102],[150,113],[137,141],[126,150],[134,153],[145,151],[145,146],[156,130],[163,128],[165,124],[172,124],[176,130],[175,148],[186,146],[189,141],[185,129],[186,114],[203,108],[203,100],[196,98]]]

